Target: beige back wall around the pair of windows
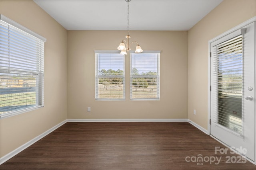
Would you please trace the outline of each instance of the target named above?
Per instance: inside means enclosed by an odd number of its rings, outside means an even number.
[[[95,101],[94,50],[116,50],[127,31],[68,31],[69,119],[187,119],[188,31],[130,31],[144,50],[161,50],[160,101]],[[132,46],[135,49],[135,46]],[[91,107],[91,112],[87,112]]]

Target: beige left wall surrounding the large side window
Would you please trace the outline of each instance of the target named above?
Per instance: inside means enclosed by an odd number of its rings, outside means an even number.
[[[0,158],[67,118],[67,31],[32,0],[0,0],[0,14],[47,39],[45,107],[0,119]]]

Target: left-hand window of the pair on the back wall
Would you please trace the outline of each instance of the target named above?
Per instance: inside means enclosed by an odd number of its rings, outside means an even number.
[[[95,51],[95,99],[125,99],[125,60],[119,51]]]

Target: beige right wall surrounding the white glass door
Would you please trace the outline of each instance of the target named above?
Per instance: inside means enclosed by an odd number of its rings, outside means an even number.
[[[256,0],[224,0],[188,31],[188,118],[205,129],[208,125],[208,41],[254,16]]]

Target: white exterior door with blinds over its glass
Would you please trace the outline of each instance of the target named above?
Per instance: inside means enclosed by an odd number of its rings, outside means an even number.
[[[210,133],[251,160],[255,150],[254,34],[255,22],[210,43]]]

